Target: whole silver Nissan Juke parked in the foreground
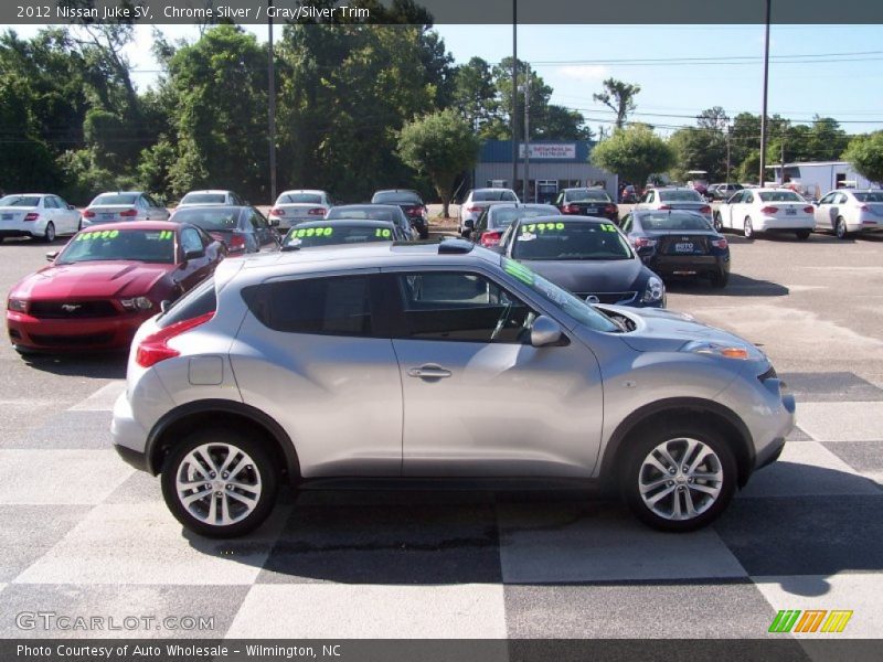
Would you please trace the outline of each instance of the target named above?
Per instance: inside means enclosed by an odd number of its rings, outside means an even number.
[[[690,531],[779,456],[794,412],[747,341],[450,239],[224,260],[139,329],[111,429],[208,536],[255,528],[283,479],[337,478],[599,483]]]

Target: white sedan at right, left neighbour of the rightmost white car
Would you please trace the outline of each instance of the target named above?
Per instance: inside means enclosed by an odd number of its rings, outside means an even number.
[[[757,232],[788,231],[806,239],[815,224],[815,207],[787,189],[745,189],[714,212],[714,228],[737,229],[749,239]]]

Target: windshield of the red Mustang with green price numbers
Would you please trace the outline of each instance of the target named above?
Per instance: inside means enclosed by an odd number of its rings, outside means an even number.
[[[127,259],[174,263],[174,233],[170,229],[96,229],[81,232],[55,259],[56,265]]]

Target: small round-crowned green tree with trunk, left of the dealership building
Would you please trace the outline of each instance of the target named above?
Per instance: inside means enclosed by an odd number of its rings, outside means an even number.
[[[442,197],[445,218],[449,217],[455,181],[475,166],[478,149],[478,138],[471,127],[453,109],[409,121],[398,135],[398,154],[433,182]]]

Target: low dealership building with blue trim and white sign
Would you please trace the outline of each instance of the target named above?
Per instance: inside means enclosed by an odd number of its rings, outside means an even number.
[[[615,174],[595,168],[588,162],[594,142],[538,141],[528,148],[529,195],[524,202],[551,202],[561,189],[574,186],[603,186],[613,200],[617,199],[618,180]],[[486,140],[481,145],[478,163],[472,171],[475,188],[496,186],[514,189],[519,197],[524,191],[524,143],[519,143],[518,177],[512,182],[512,142]]]

